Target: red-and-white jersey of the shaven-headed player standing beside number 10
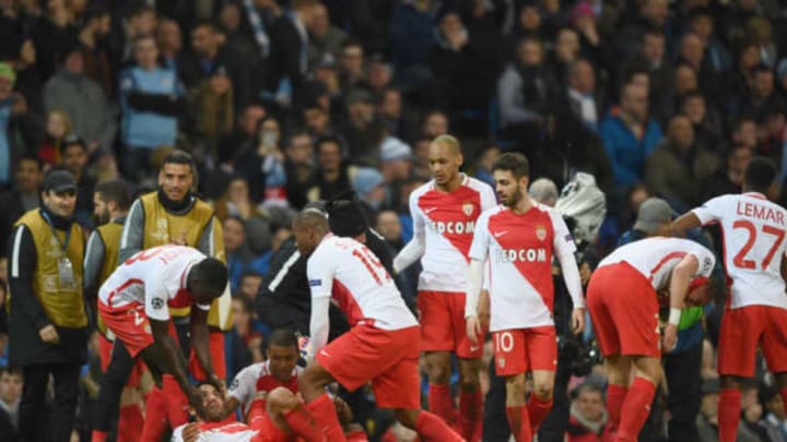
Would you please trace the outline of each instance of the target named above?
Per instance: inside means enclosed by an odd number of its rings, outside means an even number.
[[[419,290],[465,292],[475,222],[495,204],[492,188],[467,176],[450,193],[432,180],[410,194],[413,236],[425,244]]]

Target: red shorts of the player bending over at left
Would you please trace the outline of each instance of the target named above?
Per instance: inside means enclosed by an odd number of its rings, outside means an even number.
[[[115,333],[115,338],[126,345],[132,358],[153,344],[153,333],[144,306],[133,302],[113,309],[98,302],[98,314],[107,328]]]

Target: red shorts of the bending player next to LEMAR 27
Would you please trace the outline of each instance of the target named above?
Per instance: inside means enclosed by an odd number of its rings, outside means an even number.
[[[630,264],[598,268],[588,284],[587,306],[603,356],[661,357],[656,290]]]

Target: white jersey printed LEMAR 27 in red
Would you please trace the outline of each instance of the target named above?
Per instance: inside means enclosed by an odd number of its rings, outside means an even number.
[[[752,192],[714,198],[692,212],[703,225],[718,223],[721,227],[729,308],[787,309],[782,277],[787,211]]]

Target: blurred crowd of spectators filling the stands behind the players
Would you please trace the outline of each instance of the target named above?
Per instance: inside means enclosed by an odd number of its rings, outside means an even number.
[[[737,192],[753,155],[783,183],[786,19],[784,0],[0,0],[0,254],[49,168],[74,175],[92,229],[96,182],[152,190],[163,158],[189,152],[223,224],[232,378],[265,357],[255,299],[294,211],[353,189],[400,249],[437,135],[458,136],[465,171],[490,183],[508,151],[556,189],[594,175],[607,195],[598,256],[650,195],[679,214]],[[784,201],[782,187],[770,196]],[[408,299],[415,275],[398,282]],[[708,323],[703,440],[718,396]],[[99,375],[85,367],[85,397]],[[760,381],[744,425],[787,441],[780,396]],[[0,429],[21,382],[0,375]],[[602,391],[574,397],[569,440],[603,440]]]

